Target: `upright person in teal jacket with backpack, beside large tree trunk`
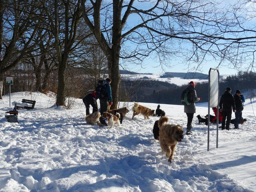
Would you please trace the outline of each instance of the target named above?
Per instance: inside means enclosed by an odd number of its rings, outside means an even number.
[[[112,92],[111,92],[111,79],[107,78],[106,81],[104,81],[103,86],[106,84],[105,89],[105,96],[102,99],[99,99],[100,104],[100,114],[102,115],[104,112],[108,111],[108,106],[112,105]]]

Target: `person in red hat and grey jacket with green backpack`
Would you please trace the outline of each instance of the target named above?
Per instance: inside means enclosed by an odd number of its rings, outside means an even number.
[[[192,120],[194,118],[195,113],[195,102],[199,101],[201,97],[196,96],[195,92],[195,82],[191,81],[189,82],[189,85],[187,87],[188,89],[188,99],[190,100],[190,105],[184,105],[184,112],[187,115],[187,135],[191,135],[191,128],[192,128]]]

